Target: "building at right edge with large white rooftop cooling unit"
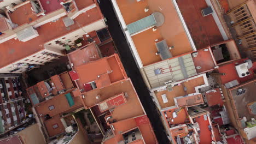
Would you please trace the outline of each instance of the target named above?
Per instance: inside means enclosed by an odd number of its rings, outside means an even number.
[[[245,66],[245,72],[241,72],[241,66]],[[230,122],[240,132],[246,143],[255,138],[255,97],[253,85],[255,63],[248,58],[227,63],[219,67],[218,73],[225,75],[217,76],[217,81],[224,89],[223,96],[226,99]]]

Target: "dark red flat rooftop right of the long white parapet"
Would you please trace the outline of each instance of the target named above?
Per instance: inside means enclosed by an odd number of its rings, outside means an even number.
[[[203,49],[206,46],[223,41],[222,34],[213,16],[203,17],[201,14],[201,9],[208,7],[205,0],[196,2],[185,0],[177,1],[177,3],[197,49]]]

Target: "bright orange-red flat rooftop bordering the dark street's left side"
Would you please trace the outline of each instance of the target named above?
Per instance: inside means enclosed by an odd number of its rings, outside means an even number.
[[[84,56],[80,54],[78,57],[81,57],[81,59],[84,58]],[[79,77],[75,83],[77,83],[78,88],[83,89],[83,91],[86,91],[86,83],[95,82],[97,88],[102,88],[113,82],[127,78],[124,67],[117,54],[76,66],[74,70],[77,73],[77,77]]]

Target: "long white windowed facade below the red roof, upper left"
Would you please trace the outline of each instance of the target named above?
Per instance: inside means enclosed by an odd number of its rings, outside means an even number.
[[[51,40],[48,43],[44,44],[44,50],[41,50],[37,53],[34,53],[31,56],[27,56],[26,58],[22,58],[19,61],[16,61],[14,63],[11,63],[1,68],[0,73],[23,73],[24,71],[27,70],[28,64],[43,65],[46,62],[51,62],[54,59],[58,58],[59,56],[63,55],[61,51],[65,50],[65,47],[55,44],[56,40],[63,41],[68,45],[73,45],[74,40],[80,37],[83,37],[85,33],[89,33],[91,31],[97,31],[102,28],[106,28],[106,24],[103,19],[98,20],[94,23],[91,23],[88,26],[77,29],[76,31],[63,35],[62,37]],[[70,42],[68,43],[68,41]],[[50,53],[50,55],[44,55],[43,53]],[[57,56],[51,56],[52,54],[55,54]],[[19,69],[19,70],[10,72],[11,70],[15,70],[15,69]]]

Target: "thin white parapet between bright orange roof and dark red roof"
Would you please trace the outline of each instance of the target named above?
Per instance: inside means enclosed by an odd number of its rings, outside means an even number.
[[[178,13],[179,19],[181,19],[181,22],[182,22],[182,25],[183,25],[183,27],[184,27],[184,29],[185,29],[185,32],[187,33],[188,39],[189,39],[189,41],[190,41],[190,45],[192,46],[192,49],[193,49],[194,51],[196,51],[195,43],[194,43],[194,41],[193,41],[193,39],[192,39],[192,37],[191,37],[191,35],[190,35],[190,32],[189,32],[188,27],[187,27],[187,25],[186,25],[186,23],[185,23],[185,21],[184,21],[184,19],[183,19],[183,16],[182,16],[182,14],[181,14],[181,11],[179,10],[178,4],[177,4],[176,0],[172,0],[172,2],[173,2],[173,4],[174,4],[174,7],[176,8],[176,11],[177,11],[177,13]]]

